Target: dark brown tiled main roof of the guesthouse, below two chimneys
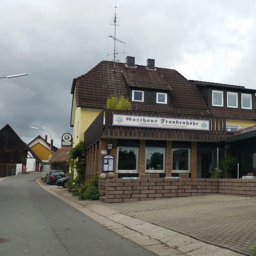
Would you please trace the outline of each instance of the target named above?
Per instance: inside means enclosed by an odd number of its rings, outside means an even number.
[[[133,110],[210,115],[200,89],[176,70],[156,68],[154,71],[141,65],[131,69],[124,63],[118,63],[114,69],[113,62],[107,61],[76,79],[77,106],[105,108],[110,95],[128,97],[127,86],[172,90],[168,106],[132,102]]]

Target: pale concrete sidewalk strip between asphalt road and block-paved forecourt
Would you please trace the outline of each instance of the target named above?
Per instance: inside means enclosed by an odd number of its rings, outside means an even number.
[[[123,238],[127,238],[135,243],[143,246],[157,255],[212,255],[212,256],[240,256],[241,254],[198,241],[189,236],[177,233],[160,224],[152,224],[143,220],[141,216],[133,214],[134,208],[137,212],[150,210],[152,203],[160,203],[168,199],[145,201],[146,208],[143,205],[131,203],[114,203],[105,204],[100,201],[79,201],[67,192],[67,189],[57,186],[46,186],[37,180],[38,184],[44,189],[65,201],[80,212],[86,214],[90,218],[111,229],[113,232],[120,234]],[[144,208],[144,209],[143,209]],[[131,212],[127,211],[129,209]],[[169,218],[171,214],[169,214]],[[134,218],[134,216],[138,218]],[[155,215],[156,216],[156,215]],[[156,220],[156,218],[155,218]],[[248,254],[247,254],[248,255]]]

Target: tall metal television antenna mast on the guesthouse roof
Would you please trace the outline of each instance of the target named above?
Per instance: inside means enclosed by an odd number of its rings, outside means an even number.
[[[109,5],[109,8],[115,8],[114,16],[110,17],[109,24],[115,26],[115,34],[116,34],[116,26],[120,26],[120,18],[117,18],[116,8],[123,9],[123,7],[117,7],[116,6],[116,1],[115,1],[115,6],[110,6]],[[106,35],[107,38],[113,38],[113,40],[114,40],[114,53],[108,54],[108,55],[114,55],[114,68],[115,68],[115,62],[118,61],[118,54],[123,53],[124,58],[125,58],[125,42],[119,40],[115,36],[115,34],[114,34],[114,36],[112,36],[112,33]],[[116,41],[117,41],[117,43],[119,42],[119,43],[123,44],[123,46],[124,46],[123,52],[116,52],[116,50],[115,50],[116,49],[116,46],[115,46],[116,45]],[[118,49],[118,46],[117,46],[117,49]],[[117,58],[117,61],[115,61],[116,58]]]

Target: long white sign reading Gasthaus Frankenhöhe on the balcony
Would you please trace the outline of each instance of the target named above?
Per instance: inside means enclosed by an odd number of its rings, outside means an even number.
[[[113,114],[113,125],[209,131],[209,120]]]

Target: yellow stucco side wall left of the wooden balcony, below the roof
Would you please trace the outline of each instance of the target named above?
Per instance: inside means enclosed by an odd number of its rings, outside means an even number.
[[[73,147],[84,141],[84,132],[91,125],[94,119],[98,116],[101,110],[80,108],[77,107],[75,111],[75,121],[73,127]],[[77,133],[78,129],[78,133]]]

